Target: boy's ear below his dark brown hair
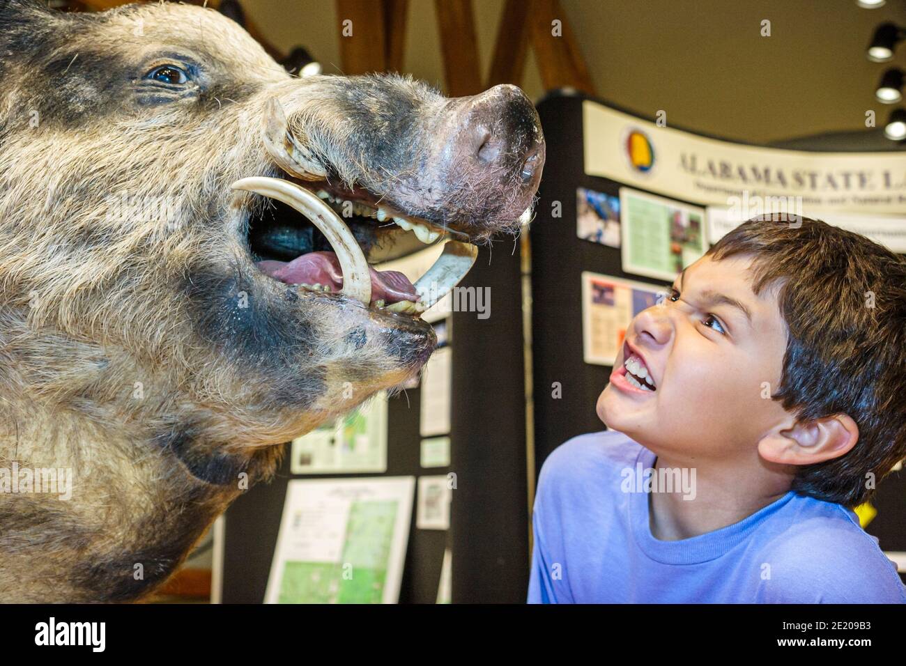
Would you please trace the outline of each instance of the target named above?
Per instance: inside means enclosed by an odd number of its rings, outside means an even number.
[[[814,465],[843,456],[858,440],[855,421],[847,414],[834,414],[768,433],[758,442],[758,455],[781,465]]]

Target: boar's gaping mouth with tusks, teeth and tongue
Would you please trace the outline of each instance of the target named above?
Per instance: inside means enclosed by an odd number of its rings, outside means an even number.
[[[265,113],[263,137],[284,178],[246,178],[232,187],[280,202],[305,218],[250,220],[247,246],[265,275],[306,291],[339,293],[372,309],[419,315],[458,285],[475,263],[477,247],[467,242],[466,234],[407,216],[364,188],[332,184],[296,143],[275,100]],[[340,215],[350,213],[347,224]],[[520,222],[530,215],[526,209]],[[445,243],[438,260],[415,284],[398,271],[379,271],[368,264],[371,246],[394,226],[422,243]]]

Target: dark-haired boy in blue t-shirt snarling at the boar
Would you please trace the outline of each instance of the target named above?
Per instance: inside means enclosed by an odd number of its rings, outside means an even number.
[[[906,603],[851,510],[906,458],[901,257],[749,220],[632,320],[597,413],[542,467],[529,603]]]

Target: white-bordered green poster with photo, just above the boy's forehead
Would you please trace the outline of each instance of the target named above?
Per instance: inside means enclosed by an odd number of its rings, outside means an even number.
[[[622,269],[672,281],[705,254],[705,209],[620,188]]]

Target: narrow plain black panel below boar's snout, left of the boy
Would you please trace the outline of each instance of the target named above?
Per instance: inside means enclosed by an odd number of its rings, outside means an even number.
[[[484,246],[462,286],[485,314],[453,314],[453,603],[525,603],[528,502],[519,242]],[[468,294],[468,292],[464,292]],[[479,314],[481,316],[479,316]],[[484,317],[484,318],[482,318]]]

